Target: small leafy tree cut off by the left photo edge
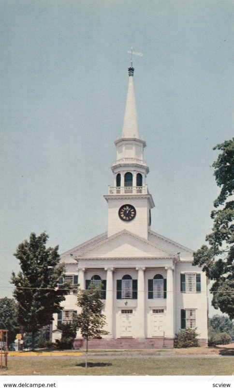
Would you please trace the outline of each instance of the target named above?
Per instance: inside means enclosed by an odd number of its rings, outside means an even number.
[[[15,342],[16,334],[19,333],[17,321],[17,304],[14,299],[0,299],[0,329],[8,330],[8,345]]]

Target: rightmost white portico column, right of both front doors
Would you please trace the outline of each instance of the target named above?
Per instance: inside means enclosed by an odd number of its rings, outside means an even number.
[[[173,270],[174,267],[165,267],[167,270],[167,310],[166,310],[166,337],[174,337],[174,287]]]

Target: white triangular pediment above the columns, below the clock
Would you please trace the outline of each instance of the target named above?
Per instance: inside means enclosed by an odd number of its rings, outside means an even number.
[[[78,258],[127,258],[127,257],[173,257],[170,252],[161,249],[157,244],[147,241],[127,230],[103,239],[101,242],[76,251]]]

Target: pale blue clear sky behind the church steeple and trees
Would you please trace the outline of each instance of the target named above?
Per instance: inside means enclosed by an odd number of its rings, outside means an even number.
[[[31,231],[64,252],[107,229],[131,47],[152,229],[204,243],[212,147],[233,137],[233,14],[228,0],[0,1],[0,296]]]

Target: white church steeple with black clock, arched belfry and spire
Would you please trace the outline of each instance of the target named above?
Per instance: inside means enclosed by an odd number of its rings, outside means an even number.
[[[146,184],[149,172],[144,160],[146,142],[139,138],[138,133],[132,61],[128,72],[129,86],[122,137],[115,141],[117,157],[111,167],[114,185],[109,186],[108,195],[104,195],[108,203],[108,237],[126,229],[148,239],[150,211],[154,208],[154,202]]]

